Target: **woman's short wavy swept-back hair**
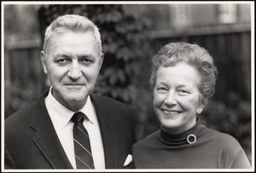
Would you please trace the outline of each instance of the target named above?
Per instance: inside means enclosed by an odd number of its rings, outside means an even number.
[[[196,43],[168,43],[153,58],[153,68],[150,84],[154,88],[156,72],[160,66],[176,66],[178,63],[186,63],[193,66],[201,76],[198,88],[201,93],[200,101],[207,104],[215,91],[215,83],[218,75],[217,67],[214,66],[212,56],[206,49]]]

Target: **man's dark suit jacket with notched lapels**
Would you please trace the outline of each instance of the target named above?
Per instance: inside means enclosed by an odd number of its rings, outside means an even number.
[[[44,104],[48,92],[5,120],[5,169],[73,169]],[[91,95],[91,101],[100,124],[106,168],[123,168],[135,142],[134,113],[101,95]]]

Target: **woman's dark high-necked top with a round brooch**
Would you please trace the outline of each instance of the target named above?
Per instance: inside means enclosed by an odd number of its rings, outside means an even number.
[[[189,144],[187,137],[196,136]],[[195,138],[189,137],[193,142]],[[198,120],[179,135],[158,130],[133,146],[135,168],[142,169],[250,169],[241,145],[228,134],[208,129]]]

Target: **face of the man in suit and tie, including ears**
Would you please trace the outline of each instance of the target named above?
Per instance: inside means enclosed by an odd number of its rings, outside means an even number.
[[[73,111],[84,107],[103,60],[92,33],[55,34],[47,54],[42,52],[41,58],[55,99]]]

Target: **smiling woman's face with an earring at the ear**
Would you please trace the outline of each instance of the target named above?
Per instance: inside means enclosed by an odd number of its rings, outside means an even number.
[[[154,86],[154,111],[161,128],[167,133],[179,134],[196,123],[196,111],[200,104],[200,74],[186,63],[176,66],[160,66]]]

